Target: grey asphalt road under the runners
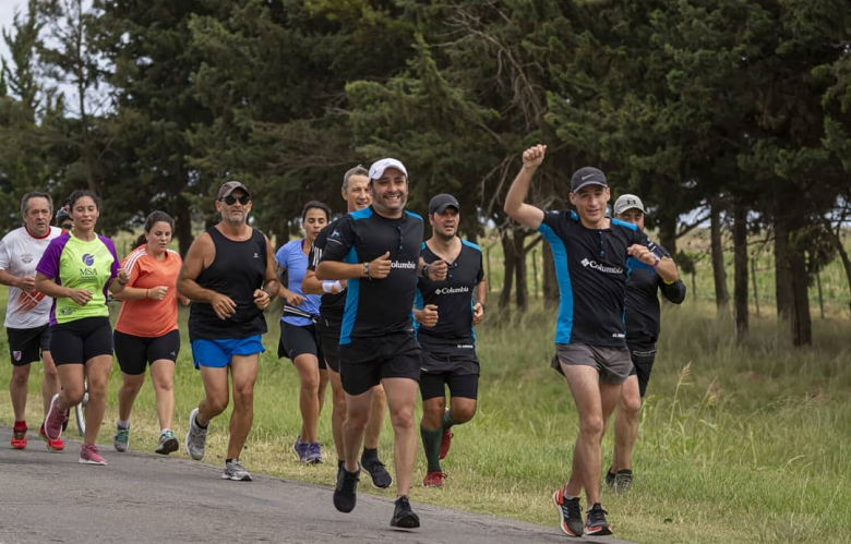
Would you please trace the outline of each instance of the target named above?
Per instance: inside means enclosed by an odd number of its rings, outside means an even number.
[[[86,466],[77,463],[80,442],[50,452],[31,432],[27,449],[13,450],[11,435],[0,426],[0,544],[582,542],[559,531],[555,512],[552,527],[541,527],[415,503],[422,528],[398,531],[388,498],[361,494],[353,512],[339,513],[331,487],[256,473],[250,483],[224,481],[220,467],[106,446],[109,464]]]

